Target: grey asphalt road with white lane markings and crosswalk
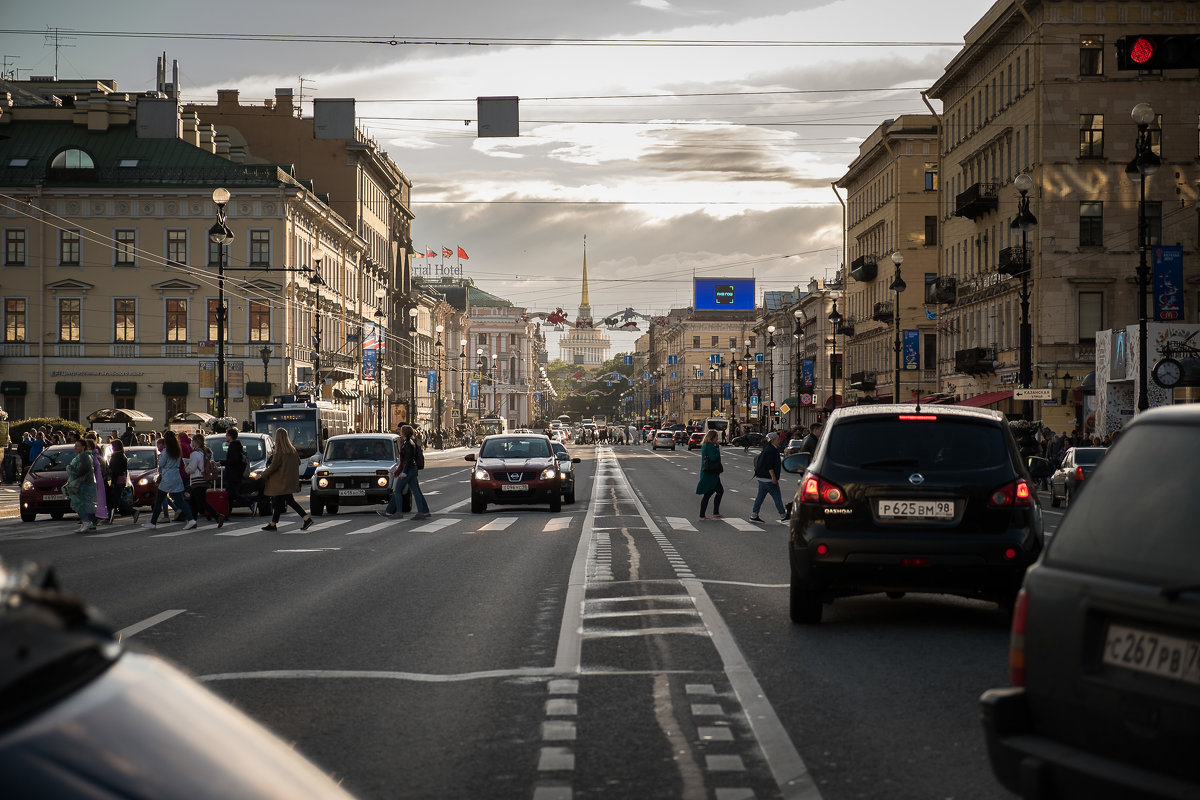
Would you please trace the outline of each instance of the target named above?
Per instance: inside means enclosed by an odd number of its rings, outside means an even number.
[[[361,798],[1009,796],[977,710],[1007,618],[870,596],[793,626],[786,529],[746,521],[755,452],[726,451],[721,521],[684,449],[575,449],[557,515],[472,515],[462,452],[428,453],[430,521],[2,519],[0,557],[53,563]]]

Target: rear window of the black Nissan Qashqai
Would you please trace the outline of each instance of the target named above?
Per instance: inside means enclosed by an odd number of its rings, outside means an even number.
[[[824,458],[863,469],[995,469],[1010,463],[1007,435],[998,425],[948,416],[846,420],[830,426]]]

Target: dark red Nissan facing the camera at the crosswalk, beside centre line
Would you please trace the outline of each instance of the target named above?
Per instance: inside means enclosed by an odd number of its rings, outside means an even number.
[[[490,503],[535,505],[563,510],[563,479],[548,437],[502,433],[484,439],[479,456],[468,453],[470,512],[484,513]]]

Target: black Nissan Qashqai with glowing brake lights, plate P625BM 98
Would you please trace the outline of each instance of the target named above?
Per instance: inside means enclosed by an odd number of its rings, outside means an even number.
[[[836,409],[803,471],[791,525],[794,622],[835,597],[928,591],[1012,606],[1042,552],[1033,479],[1008,422],[976,408]],[[1031,475],[1030,469],[1033,470]]]

